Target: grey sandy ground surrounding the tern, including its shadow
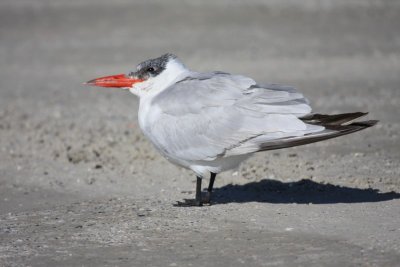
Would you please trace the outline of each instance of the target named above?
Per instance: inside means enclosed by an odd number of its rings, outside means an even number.
[[[399,266],[400,2],[0,2],[0,266]],[[138,100],[85,87],[177,54],[297,86],[374,128],[195,177],[142,135]],[[208,181],[205,181],[205,184]]]

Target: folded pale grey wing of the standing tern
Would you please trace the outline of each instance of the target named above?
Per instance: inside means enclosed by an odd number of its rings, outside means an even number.
[[[277,138],[324,128],[298,119],[311,112],[293,87],[258,85],[227,73],[195,73],[153,99],[160,110],[151,125],[157,145],[186,160],[252,153]]]

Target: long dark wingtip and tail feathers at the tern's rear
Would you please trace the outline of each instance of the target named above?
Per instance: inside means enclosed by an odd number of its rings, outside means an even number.
[[[304,136],[294,136],[294,137],[286,137],[281,139],[272,140],[266,143],[263,143],[260,146],[259,151],[265,150],[274,150],[280,148],[287,148],[293,146],[301,146],[310,143],[315,143],[331,138],[335,138],[338,136],[351,134],[354,132],[358,132],[364,130],[366,128],[374,126],[378,123],[377,120],[369,120],[369,121],[360,121],[360,122],[352,122],[354,119],[365,116],[367,113],[356,112],[356,113],[346,113],[346,114],[338,114],[338,115],[321,115],[321,114],[313,114],[308,117],[303,117],[305,123],[321,125],[325,127],[325,130],[317,133],[310,133]],[[350,123],[350,124],[348,124]]]

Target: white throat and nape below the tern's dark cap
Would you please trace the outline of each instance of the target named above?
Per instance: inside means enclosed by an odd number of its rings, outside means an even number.
[[[190,70],[187,69],[182,62],[174,58],[167,63],[165,70],[159,75],[134,85],[129,89],[129,91],[140,98],[147,98],[149,96],[153,97],[169,87],[175,81],[185,77],[188,72],[190,72]]]

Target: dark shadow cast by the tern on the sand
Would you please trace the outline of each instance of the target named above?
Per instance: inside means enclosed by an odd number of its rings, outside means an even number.
[[[308,179],[280,182],[263,179],[244,185],[226,185],[213,191],[213,205],[227,203],[265,202],[298,204],[334,204],[380,202],[399,199],[397,192],[382,193],[377,189],[359,189],[317,183]]]

